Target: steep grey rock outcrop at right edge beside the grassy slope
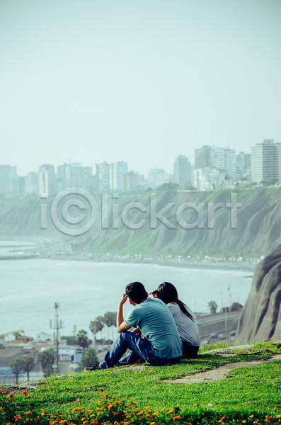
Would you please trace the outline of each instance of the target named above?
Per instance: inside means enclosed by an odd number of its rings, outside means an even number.
[[[281,334],[281,246],[258,263],[239,317],[236,341],[256,342]]]

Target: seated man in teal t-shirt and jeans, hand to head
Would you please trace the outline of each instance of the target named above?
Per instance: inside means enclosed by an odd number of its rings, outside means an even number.
[[[134,308],[124,320],[123,305],[127,298]],[[129,365],[139,359],[151,366],[171,365],[180,361],[182,342],[176,322],[163,301],[148,297],[142,283],[134,282],[126,286],[126,293],[118,304],[116,326],[120,335],[105,354],[104,361],[93,368],[85,368],[85,371]],[[134,327],[134,331],[130,332],[130,327]],[[145,338],[137,335],[140,332]],[[132,351],[120,360],[127,348]]]

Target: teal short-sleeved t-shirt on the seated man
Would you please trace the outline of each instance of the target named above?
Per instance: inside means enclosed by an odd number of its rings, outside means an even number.
[[[147,298],[137,304],[127,315],[125,322],[139,327],[151,342],[155,356],[175,358],[182,356],[182,342],[176,322],[166,304],[158,298]]]

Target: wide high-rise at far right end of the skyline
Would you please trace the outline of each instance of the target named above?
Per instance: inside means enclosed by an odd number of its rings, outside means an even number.
[[[281,180],[281,144],[274,143],[273,139],[265,139],[263,143],[252,146],[251,181]]]

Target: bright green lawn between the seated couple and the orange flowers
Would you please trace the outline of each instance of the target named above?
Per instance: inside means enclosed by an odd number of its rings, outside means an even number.
[[[221,344],[222,346],[222,344]],[[46,412],[66,412],[74,407],[90,409],[101,398],[101,391],[126,399],[130,397],[138,407],[150,406],[154,411],[163,407],[181,412],[276,412],[281,410],[281,361],[237,368],[229,373],[229,379],[216,382],[179,384],[164,382],[185,375],[218,368],[226,363],[267,359],[280,353],[277,345],[270,342],[255,344],[253,348],[236,351],[232,356],[222,357],[208,350],[200,351],[198,358],[182,360],[178,365],[167,367],[146,366],[141,370],[112,368],[92,373],[77,373],[64,380],[45,380],[37,390],[30,391],[27,398],[16,395],[21,410],[45,409]],[[205,352],[205,354],[203,354]]]

